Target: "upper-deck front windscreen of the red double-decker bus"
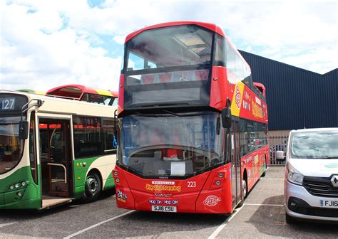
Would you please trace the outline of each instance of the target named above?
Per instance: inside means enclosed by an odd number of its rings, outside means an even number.
[[[127,72],[210,64],[212,33],[194,25],[144,31],[127,43]]]

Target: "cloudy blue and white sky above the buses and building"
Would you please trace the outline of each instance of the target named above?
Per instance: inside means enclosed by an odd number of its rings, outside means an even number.
[[[126,35],[205,21],[237,48],[327,73],[337,68],[337,1],[0,1],[0,89],[118,89]]]

